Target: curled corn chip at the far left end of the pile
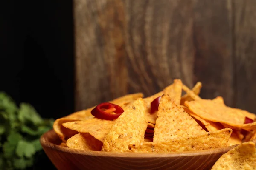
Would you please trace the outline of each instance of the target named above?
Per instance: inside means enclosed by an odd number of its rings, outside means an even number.
[[[73,135],[78,133],[77,131],[67,129],[67,128],[62,126],[62,123],[72,122],[72,121],[75,121],[75,120],[73,120],[73,119],[66,119],[66,118],[60,118],[60,119],[56,119],[54,121],[54,123],[53,123],[53,129],[54,129],[55,133],[57,133],[57,135],[59,136],[59,138],[63,142],[66,142],[67,138],[70,138]]]

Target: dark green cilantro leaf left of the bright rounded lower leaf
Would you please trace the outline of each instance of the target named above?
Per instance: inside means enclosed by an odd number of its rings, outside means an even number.
[[[6,159],[12,158],[15,155],[15,149],[21,139],[22,136],[19,133],[11,133],[7,137],[7,141],[3,144],[3,154]]]

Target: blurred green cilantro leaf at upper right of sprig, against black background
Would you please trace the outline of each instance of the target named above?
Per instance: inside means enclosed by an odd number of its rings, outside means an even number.
[[[37,113],[35,108],[32,105],[27,103],[20,104],[18,119],[23,124],[33,123],[33,125],[40,125],[43,122],[43,119]]]

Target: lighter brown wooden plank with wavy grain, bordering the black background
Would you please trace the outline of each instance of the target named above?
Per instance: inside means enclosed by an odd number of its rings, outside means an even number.
[[[175,78],[192,87],[193,2],[75,0],[76,110]]]

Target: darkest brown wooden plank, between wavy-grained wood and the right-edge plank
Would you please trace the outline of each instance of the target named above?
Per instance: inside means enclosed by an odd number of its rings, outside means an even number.
[[[223,96],[233,104],[231,0],[199,0],[195,5],[194,82],[201,81],[200,96]]]

